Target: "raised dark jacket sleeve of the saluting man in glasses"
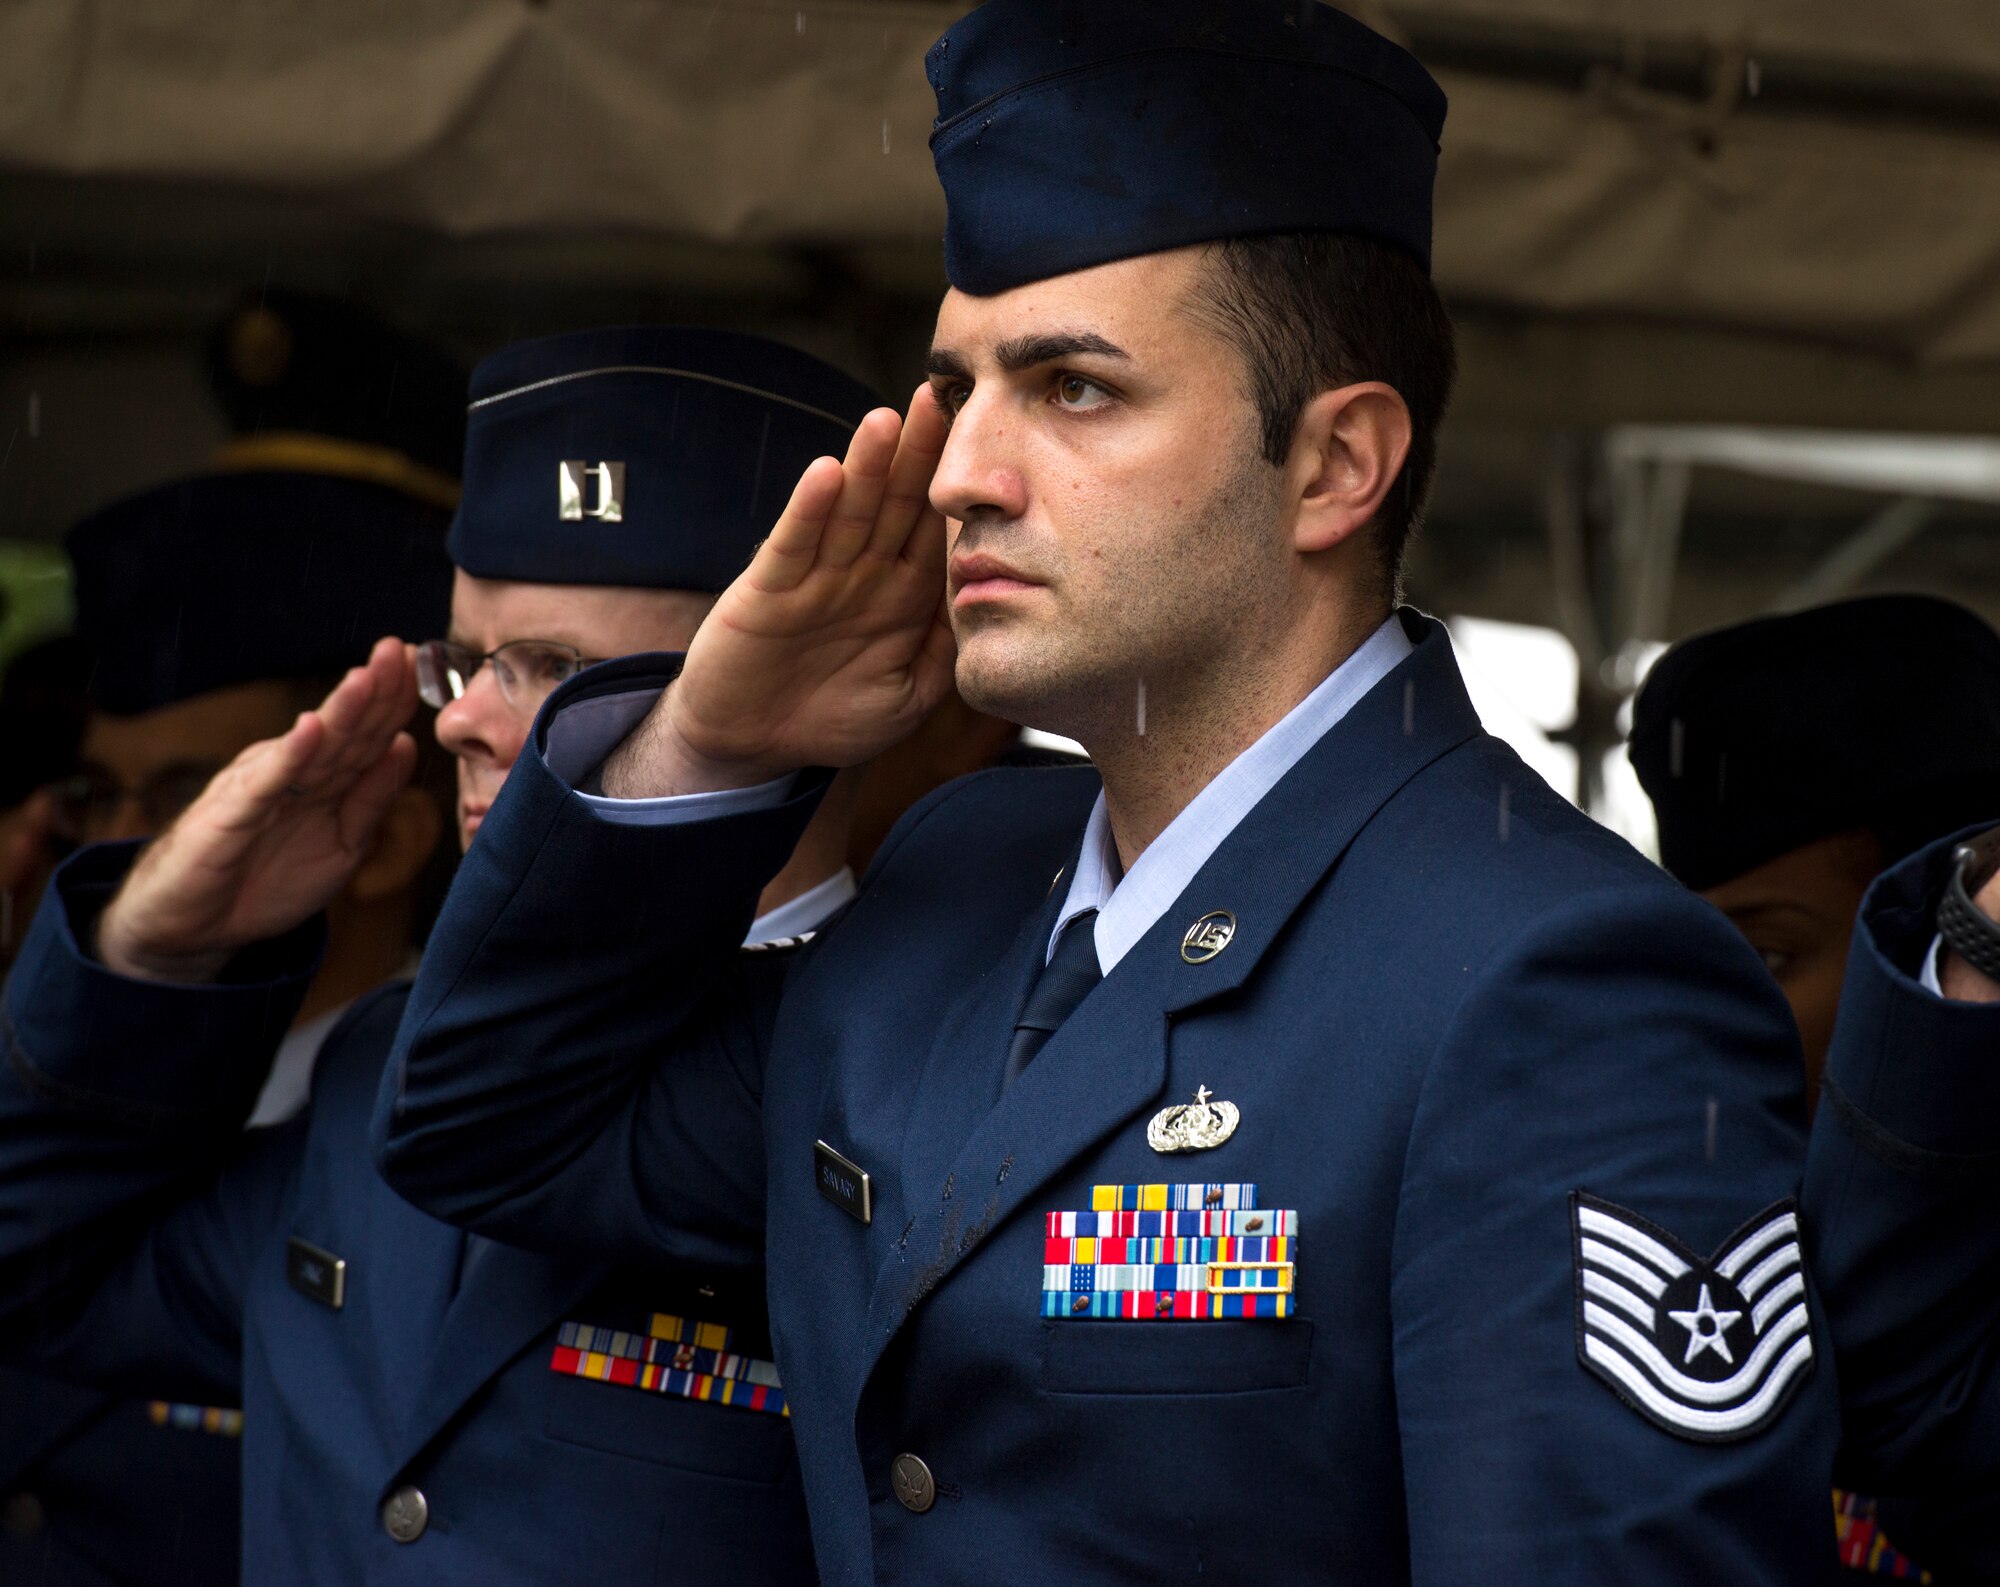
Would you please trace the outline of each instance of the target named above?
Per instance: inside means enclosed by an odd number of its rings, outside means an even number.
[[[248,1251],[296,1131],[244,1135],[318,925],[228,983],[132,981],[82,947],[130,849],[54,877],[6,989],[0,1349],[148,1397],[232,1397]]]

